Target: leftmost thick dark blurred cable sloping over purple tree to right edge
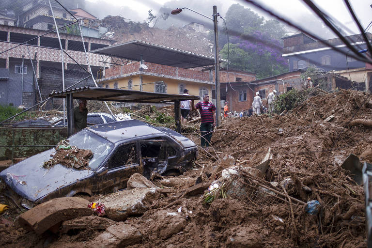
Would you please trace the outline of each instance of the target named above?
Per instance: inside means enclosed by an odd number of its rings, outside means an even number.
[[[325,40],[322,40],[320,37],[318,37],[317,35],[315,34],[312,34],[308,31],[305,31],[304,29],[302,29],[301,27],[297,26],[297,25],[294,25],[292,22],[288,21],[287,19],[281,17],[281,16],[278,16],[276,15],[275,13],[273,13],[272,11],[266,9],[265,7],[263,7],[262,5],[258,4],[257,2],[255,2],[254,0],[245,0],[246,2],[256,6],[257,8],[263,10],[264,12],[268,13],[269,15],[271,16],[274,16],[276,17],[278,20],[284,22],[285,24],[291,26],[291,27],[294,27],[295,29],[298,29],[299,31],[303,32],[304,34],[308,35],[309,37],[315,39],[315,40],[318,40],[319,42],[323,43],[324,45],[326,45],[327,47],[331,47],[333,48],[334,50],[344,54],[344,55],[347,55],[345,51],[343,51],[342,49],[330,44],[329,42],[325,41]],[[243,38],[246,38],[246,37],[251,37],[251,36],[248,36],[248,35],[242,35],[241,37]],[[252,39],[254,39],[253,37],[251,37]],[[255,39],[255,40],[259,40],[259,39]],[[345,44],[346,45],[346,44]],[[275,46],[277,47],[277,46]],[[354,59],[358,60],[358,61],[362,61],[362,62],[367,62],[367,63],[372,63],[372,60],[371,59],[368,59],[368,58],[365,58],[365,57],[360,57],[360,56],[356,56],[356,55],[351,55],[350,57],[353,57]]]

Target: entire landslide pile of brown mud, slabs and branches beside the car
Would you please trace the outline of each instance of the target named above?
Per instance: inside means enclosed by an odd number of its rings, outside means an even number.
[[[154,185],[136,174],[130,188],[93,197],[108,213],[94,217],[96,222],[111,217],[109,224],[84,229],[82,217],[65,220],[60,230],[74,232],[60,231],[51,244],[46,234],[9,225],[0,242],[54,248],[366,247],[363,186],[341,164],[351,154],[372,162],[372,128],[350,125],[371,116],[371,95],[341,90],[311,96],[283,116],[223,119],[213,149],[199,150],[193,170],[155,177]],[[190,139],[200,144],[197,135]],[[133,238],[115,234],[117,227]]]

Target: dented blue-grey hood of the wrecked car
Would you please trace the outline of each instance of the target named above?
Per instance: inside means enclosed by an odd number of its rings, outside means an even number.
[[[0,172],[1,180],[9,185],[17,194],[32,202],[43,196],[72,184],[74,181],[88,177],[94,171],[76,170],[56,164],[49,170],[43,163],[51,158],[55,150],[33,155]]]

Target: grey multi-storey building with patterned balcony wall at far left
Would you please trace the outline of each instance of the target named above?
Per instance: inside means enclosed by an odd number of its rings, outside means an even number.
[[[85,71],[87,61],[81,36],[65,33],[60,35],[62,47],[71,56],[70,58],[64,54],[65,87],[68,87],[88,77],[89,74]],[[26,41],[30,46],[20,45]],[[84,37],[84,42],[87,51],[90,51],[110,46],[114,41]],[[45,34],[42,30],[0,25],[0,47],[2,52],[0,54],[1,105],[29,107],[39,101],[35,77],[38,79],[43,99],[53,90],[62,90],[62,57],[55,32]],[[88,58],[93,76],[96,76],[97,71],[104,65],[100,62],[102,58],[91,53],[88,54]],[[88,78],[76,87],[84,85],[93,85],[92,79]],[[60,105],[60,103],[53,104],[55,107]]]

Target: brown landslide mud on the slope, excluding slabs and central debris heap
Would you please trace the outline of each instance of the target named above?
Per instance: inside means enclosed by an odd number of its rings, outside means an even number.
[[[325,121],[330,115],[334,118]],[[270,196],[235,196],[204,204],[202,194],[180,194],[190,186],[181,184],[171,187],[173,193],[167,197],[162,195],[152,202],[143,215],[124,221],[141,233],[140,243],[128,247],[366,247],[364,190],[340,167],[350,154],[362,162],[372,162],[372,128],[349,126],[356,118],[372,119],[372,97],[343,90],[309,96],[284,116],[226,118],[214,131],[214,149],[200,149],[195,168],[180,176],[211,182],[232,164],[257,165],[271,148],[273,158],[262,180],[279,184],[291,178],[295,190],[288,192],[290,196],[302,202],[319,201],[322,210],[318,216],[307,214],[302,204],[290,203],[285,197],[272,201]],[[200,144],[197,132],[186,136]],[[223,159],[229,155],[233,158]],[[164,187],[160,179],[153,183]],[[302,186],[311,191],[300,190]],[[280,186],[277,189],[281,190]],[[16,218],[16,210],[8,211],[13,214],[2,217]],[[51,234],[37,235],[2,224],[0,244],[17,248],[88,247],[102,232],[87,229],[53,239]]]

